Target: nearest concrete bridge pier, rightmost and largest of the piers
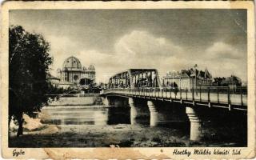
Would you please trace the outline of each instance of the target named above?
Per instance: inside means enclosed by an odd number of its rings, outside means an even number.
[[[202,138],[202,121],[198,116],[198,110],[187,106],[186,114],[190,119],[190,140],[199,141]]]

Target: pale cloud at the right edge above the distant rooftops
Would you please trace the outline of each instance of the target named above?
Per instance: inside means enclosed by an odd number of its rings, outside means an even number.
[[[227,77],[235,74],[246,80],[246,50],[239,50],[225,42],[214,42],[202,54],[198,66],[206,66],[214,77]]]

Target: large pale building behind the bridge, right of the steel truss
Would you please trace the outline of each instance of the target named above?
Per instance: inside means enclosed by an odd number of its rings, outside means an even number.
[[[168,72],[162,78],[162,86],[178,86],[182,89],[191,89],[195,86],[211,86],[212,82],[212,76],[207,69],[202,71],[191,68],[190,70]]]

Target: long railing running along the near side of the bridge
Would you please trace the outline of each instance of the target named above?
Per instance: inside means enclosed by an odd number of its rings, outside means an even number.
[[[206,102],[226,104],[227,106],[247,106],[247,89],[243,86],[230,88],[228,86],[198,86],[192,89],[180,88],[118,88],[103,90],[101,94],[116,93],[147,98],[162,98],[184,100],[190,102]]]

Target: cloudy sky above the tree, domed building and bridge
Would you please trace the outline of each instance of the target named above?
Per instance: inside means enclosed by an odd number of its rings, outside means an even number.
[[[97,82],[129,68],[163,76],[195,64],[247,79],[246,10],[10,10],[10,25],[50,42],[53,75],[74,56],[95,66]]]

